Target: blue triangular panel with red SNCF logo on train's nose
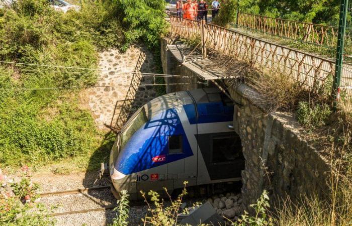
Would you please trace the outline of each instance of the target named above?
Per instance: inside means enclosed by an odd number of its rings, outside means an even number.
[[[194,106],[193,106],[194,107]],[[182,135],[182,154],[168,154],[168,137]],[[166,109],[145,123],[121,150],[115,168],[131,174],[192,156],[177,110]]]

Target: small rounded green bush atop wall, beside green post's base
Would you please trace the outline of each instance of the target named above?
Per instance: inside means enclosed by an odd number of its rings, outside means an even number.
[[[330,107],[326,104],[315,104],[306,101],[298,103],[297,119],[306,127],[321,127],[331,114]]]

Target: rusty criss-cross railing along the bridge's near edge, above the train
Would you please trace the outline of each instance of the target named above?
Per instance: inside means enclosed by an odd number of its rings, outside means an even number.
[[[187,39],[201,37],[198,21],[170,16],[171,31]],[[335,62],[320,56],[253,38],[213,24],[205,24],[204,42],[222,54],[247,61],[251,66],[283,73],[308,90],[332,90]],[[341,77],[343,105],[352,109],[352,66],[345,65]]]

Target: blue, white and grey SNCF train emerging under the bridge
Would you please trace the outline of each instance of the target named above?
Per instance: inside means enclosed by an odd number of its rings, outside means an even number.
[[[217,88],[169,93],[146,103],[129,119],[110,154],[116,191],[131,199],[142,191],[231,183],[241,179],[244,158],[231,130],[234,106]]]

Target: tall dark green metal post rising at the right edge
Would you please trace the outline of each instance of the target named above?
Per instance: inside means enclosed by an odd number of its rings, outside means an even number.
[[[341,83],[341,73],[343,67],[343,46],[344,36],[346,32],[346,21],[347,21],[347,8],[348,0],[341,0],[340,3],[340,19],[338,22],[338,38],[337,38],[337,49],[336,49],[336,65],[335,65],[335,77],[332,86],[332,97],[333,97],[333,109],[336,111],[338,102],[338,92]]]

